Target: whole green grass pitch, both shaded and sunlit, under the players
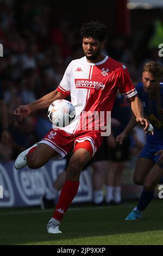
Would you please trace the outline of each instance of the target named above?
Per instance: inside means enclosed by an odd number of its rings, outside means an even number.
[[[163,245],[163,204],[153,200],[140,221],[124,221],[136,202],[72,206],[60,229],[47,234],[53,210],[1,209],[0,245]]]

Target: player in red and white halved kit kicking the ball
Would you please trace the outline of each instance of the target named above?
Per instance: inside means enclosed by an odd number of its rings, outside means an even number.
[[[80,173],[102,143],[101,127],[89,130],[89,126],[86,126],[87,129],[83,129],[82,113],[111,111],[119,89],[124,97],[130,99],[136,121],[143,125],[145,132],[149,126],[148,120],[143,117],[142,102],[137,97],[126,67],[102,53],[106,33],[107,28],[98,21],[83,24],[80,35],[85,56],[72,60],[56,90],[28,105],[19,106],[14,112],[17,120],[21,121],[33,111],[48,108],[54,100],[66,99],[67,95],[71,95],[71,102],[76,109],[76,118],[70,125],[56,131],[50,130],[42,141],[23,151],[15,161],[16,169],[26,165],[40,168],[52,157],[61,159],[66,156],[73,148],[65,184],[47,224],[48,233],[51,234],[61,233],[60,221],[76,196]]]

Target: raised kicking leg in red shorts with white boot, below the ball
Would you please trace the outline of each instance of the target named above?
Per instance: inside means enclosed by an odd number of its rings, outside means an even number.
[[[21,169],[27,166],[31,169],[42,167],[52,157],[61,160],[73,146],[72,136],[64,131],[49,130],[46,136],[32,147],[24,150],[15,161],[15,168]]]

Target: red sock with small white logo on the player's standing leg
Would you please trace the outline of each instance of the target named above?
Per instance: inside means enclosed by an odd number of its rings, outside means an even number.
[[[61,221],[64,217],[68,207],[70,206],[72,200],[78,192],[79,181],[66,180],[62,190],[60,192],[60,197],[58,204],[55,208],[53,218],[58,221]]]

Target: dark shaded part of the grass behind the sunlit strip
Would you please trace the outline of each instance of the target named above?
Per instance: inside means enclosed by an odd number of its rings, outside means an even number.
[[[126,203],[119,206],[68,211],[60,225],[63,233],[56,235],[47,234],[46,229],[46,223],[51,218],[53,210],[39,211],[35,214],[29,210],[27,214],[1,215],[0,244],[41,245],[47,242],[49,245],[66,245],[66,242],[71,244],[72,241],[73,245],[73,240],[79,239],[76,244],[81,245],[82,239],[86,237],[127,235],[156,231],[160,228],[163,230],[163,207],[158,200],[149,205],[142,220],[124,221],[132,209],[133,207]]]

